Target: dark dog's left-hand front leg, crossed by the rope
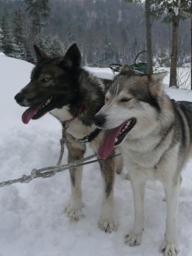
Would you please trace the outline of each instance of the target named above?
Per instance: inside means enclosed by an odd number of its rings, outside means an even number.
[[[68,148],[68,163],[83,159],[86,147],[84,144],[77,142],[69,135],[66,137]],[[71,181],[71,198],[66,207],[66,214],[71,221],[78,221],[83,217],[82,208],[82,171],[83,167],[70,168]]]

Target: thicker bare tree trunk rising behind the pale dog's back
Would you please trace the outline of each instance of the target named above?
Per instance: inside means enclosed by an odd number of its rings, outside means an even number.
[[[175,14],[172,20],[172,46],[171,46],[171,67],[170,67],[170,87],[177,86],[177,60],[178,60],[178,25],[179,17]]]

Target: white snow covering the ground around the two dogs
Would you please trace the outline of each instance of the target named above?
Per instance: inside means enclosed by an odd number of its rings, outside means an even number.
[[[25,61],[0,58],[0,181],[29,174],[32,168],[56,164],[60,151],[61,127],[56,119],[45,115],[24,125],[24,108],[14,95],[30,79],[32,65]],[[111,77],[110,70],[89,69],[97,75]],[[164,82],[167,83],[167,77]],[[165,88],[171,98],[191,101],[188,90]],[[87,155],[92,151],[87,150]],[[63,163],[66,163],[66,153]],[[192,163],[183,171],[178,218],[180,255],[192,252]],[[71,223],[64,215],[70,196],[68,172],[49,179],[35,179],[28,184],[0,188],[0,256],[158,256],[165,231],[166,205],[159,183],[148,183],[145,199],[145,232],[142,245],[129,247],[124,236],[131,230],[134,207],[131,186],[116,176],[115,209],[119,229],[105,234],[97,228],[102,197],[102,179],[98,164],[84,167],[83,200],[85,218]]]

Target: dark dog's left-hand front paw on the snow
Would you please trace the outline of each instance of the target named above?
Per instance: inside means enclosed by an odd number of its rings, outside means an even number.
[[[79,221],[80,218],[84,217],[82,208],[83,203],[76,206],[74,206],[74,204],[69,203],[69,205],[66,206],[65,212],[67,217],[70,218],[70,221]]]

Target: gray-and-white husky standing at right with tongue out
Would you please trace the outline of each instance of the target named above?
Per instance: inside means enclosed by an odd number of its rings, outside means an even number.
[[[124,65],[106,93],[106,104],[95,116],[95,124],[110,129],[100,157],[108,157],[114,146],[122,145],[135,205],[134,226],[126,243],[141,244],[145,184],[148,179],[157,179],[164,186],[167,202],[161,251],[174,256],[179,251],[176,225],[181,170],[192,148],[192,103],[175,102],[164,93],[162,79],[166,74],[135,74]]]

